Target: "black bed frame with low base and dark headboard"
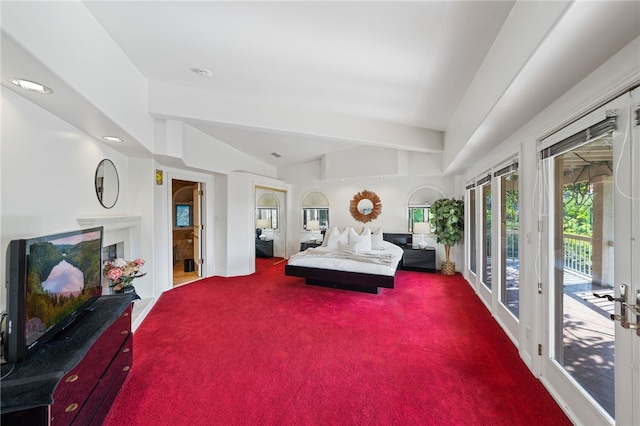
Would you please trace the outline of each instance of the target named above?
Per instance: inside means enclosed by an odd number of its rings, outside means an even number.
[[[382,235],[382,238],[385,241],[389,241],[390,243],[400,246],[411,244],[411,234],[385,233]],[[398,262],[398,265],[401,263],[402,260]],[[305,284],[307,285],[379,294],[381,288],[393,288],[397,270],[396,266],[396,270],[393,272],[393,275],[376,275],[286,265],[284,268],[284,274],[292,277],[302,277],[305,279]]]

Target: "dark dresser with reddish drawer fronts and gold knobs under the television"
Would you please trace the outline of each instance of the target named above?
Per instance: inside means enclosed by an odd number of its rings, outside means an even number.
[[[3,425],[102,424],[133,363],[131,296],[103,296],[92,308],[2,380]]]

